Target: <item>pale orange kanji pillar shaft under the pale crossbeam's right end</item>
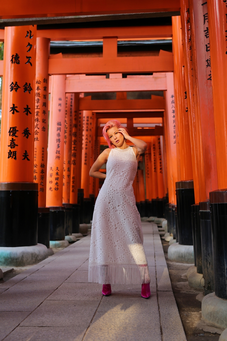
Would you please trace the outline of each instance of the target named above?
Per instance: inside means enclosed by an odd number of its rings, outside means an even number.
[[[176,148],[176,118],[175,118],[175,98],[174,98],[174,79],[173,72],[166,73],[166,110],[165,110],[165,130],[166,143],[168,144],[168,160],[167,171],[168,176],[168,193],[169,202],[176,204],[176,181],[177,181],[177,148]],[[168,166],[169,164],[169,166]]]

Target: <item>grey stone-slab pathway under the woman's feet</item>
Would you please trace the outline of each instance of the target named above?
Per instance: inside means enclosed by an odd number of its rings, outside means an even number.
[[[142,223],[151,297],[88,283],[90,236],[0,285],[0,340],[186,341],[158,228]]]

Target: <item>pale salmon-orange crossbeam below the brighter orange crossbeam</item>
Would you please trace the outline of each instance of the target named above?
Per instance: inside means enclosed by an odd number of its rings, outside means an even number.
[[[0,65],[1,67],[1,65]],[[102,91],[160,91],[166,90],[166,77],[144,76],[141,78],[105,78],[105,79],[66,79],[67,92]]]

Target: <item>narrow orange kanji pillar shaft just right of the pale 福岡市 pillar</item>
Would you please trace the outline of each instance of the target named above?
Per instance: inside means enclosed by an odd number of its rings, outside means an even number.
[[[70,180],[72,158],[72,121],[74,115],[74,93],[65,95],[65,134],[64,134],[64,168],[63,168],[63,204],[70,203]]]

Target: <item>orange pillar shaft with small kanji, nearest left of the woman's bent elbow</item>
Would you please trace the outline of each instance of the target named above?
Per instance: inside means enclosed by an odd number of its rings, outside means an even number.
[[[92,144],[92,111],[83,112],[83,134],[82,134],[82,163],[81,163],[81,188],[84,189],[84,197],[90,195],[91,169],[91,144]]]

